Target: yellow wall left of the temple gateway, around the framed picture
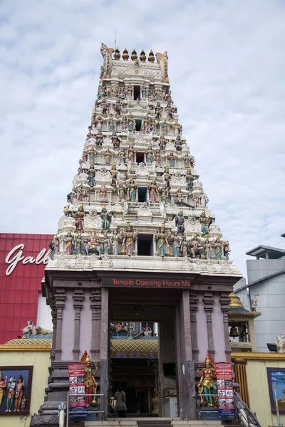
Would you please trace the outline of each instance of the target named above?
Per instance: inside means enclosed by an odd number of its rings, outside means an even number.
[[[51,364],[50,352],[38,351],[0,351],[1,366],[33,366],[33,384],[31,389],[31,407],[28,416],[0,416],[0,426],[5,427],[28,427],[31,415],[38,413],[43,404],[45,389],[48,386],[48,367]],[[5,395],[6,396],[6,395]],[[4,397],[5,399],[5,397]],[[22,419],[20,419],[20,417]]]

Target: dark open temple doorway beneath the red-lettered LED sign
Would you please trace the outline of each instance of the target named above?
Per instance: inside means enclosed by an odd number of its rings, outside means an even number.
[[[125,391],[127,416],[177,416],[175,305],[110,304],[109,319],[109,396]]]

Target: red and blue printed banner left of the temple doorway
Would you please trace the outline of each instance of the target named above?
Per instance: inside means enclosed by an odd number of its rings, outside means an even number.
[[[85,418],[86,412],[86,396],[84,384],[84,364],[69,363],[69,418]],[[76,396],[82,394],[83,396]],[[73,396],[74,395],[74,396]]]

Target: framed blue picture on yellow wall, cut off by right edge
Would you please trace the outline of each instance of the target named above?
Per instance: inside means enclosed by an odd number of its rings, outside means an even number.
[[[276,384],[279,413],[285,413],[285,368],[266,368],[271,413],[276,413],[274,382]]]

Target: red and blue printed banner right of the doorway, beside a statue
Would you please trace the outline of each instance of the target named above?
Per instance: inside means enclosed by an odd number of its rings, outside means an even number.
[[[219,416],[235,416],[232,363],[216,363]]]

